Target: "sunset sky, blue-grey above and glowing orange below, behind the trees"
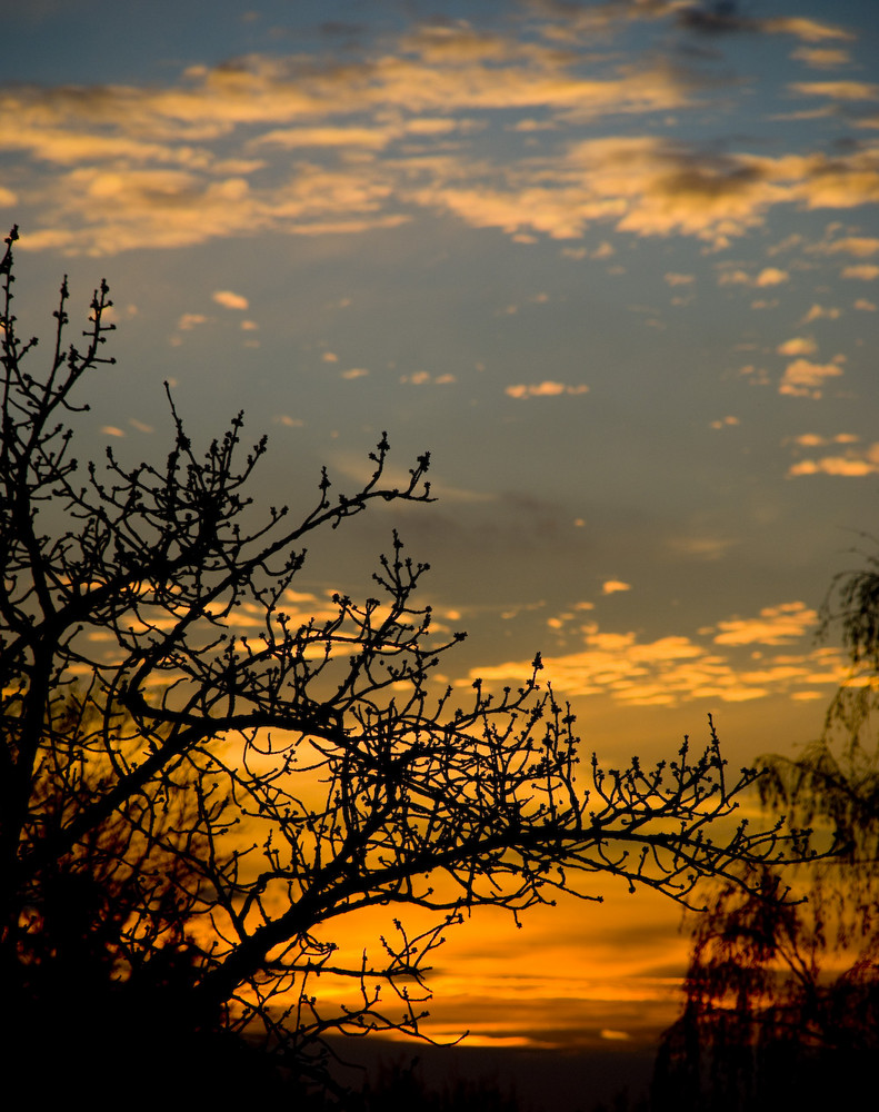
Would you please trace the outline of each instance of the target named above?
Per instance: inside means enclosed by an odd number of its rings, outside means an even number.
[[[536,651],[608,764],[712,714],[732,765],[815,737],[817,637],[879,475],[871,0],[0,0],[0,219],[22,331],[61,275],[114,297],[93,454],[270,436],[267,500],[368,474],[437,503],[316,549],[362,594],[393,527],[469,637]],[[680,912],[608,891],[460,929],[436,1033],[637,1042],[673,1016]],[[665,1019],[663,1019],[665,1017]]]

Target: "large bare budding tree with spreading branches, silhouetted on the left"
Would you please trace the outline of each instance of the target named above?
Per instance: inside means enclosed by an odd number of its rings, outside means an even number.
[[[161,1027],[152,1058],[170,1069],[193,1040],[259,1022],[307,1074],[327,1032],[417,1034],[430,955],[475,907],[590,898],[597,874],[686,903],[700,877],[801,852],[730,820],[755,774],[727,780],[713,732],[701,755],[685,742],[655,770],[593,758],[578,776],[575,718],[539,657],[521,687],[477,682],[455,706],[432,677],[463,634],[434,634],[416,598],[427,565],[396,534],[377,597],[294,616],[307,538],[376,502],[431,500],[427,455],[393,486],[382,436],[368,481],[333,500],[324,470],[292,522],[247,493],[264,439],[242,457],[239,415],[199,454],[169,395],[161,466],[108,449],[80,470],[80,379],[113,361],[108,287],[66,347],[64,281],[31,375],[16,238],[0,266],[0,967],[22,1061],[49,1014],[71,1071],[98,1025],[119,1069]],[[393,931],[346,959],[333,921],[370,907]],[[394,919],[407,907],[427,915],[414,932]],[[353,997],[333,1007],[331,979]]]

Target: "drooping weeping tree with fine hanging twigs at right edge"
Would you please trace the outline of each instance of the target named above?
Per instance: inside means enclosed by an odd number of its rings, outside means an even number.
[[[879,1052],[879,565],[843,573],[822,631],[841,623],[850,674],[821,737],[796,758],[762,758],[762,805],[832,832],[835,852],[782,874],[725,883],[695,920],[680,1020],[666,1033],[657,1106],[826,1108],[857,1091]],[[746,866],[748,867],[748,866]],[[758,882],[755,884],[755,880]],[[802,902],[782,902],[793,885]]]

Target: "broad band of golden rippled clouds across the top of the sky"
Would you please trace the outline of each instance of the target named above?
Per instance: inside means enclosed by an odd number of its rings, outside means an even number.
[[[599,22],[706,18],[657,0],[599,8]],[[803,42],[847,37],[819,20],[742,23],[711,11],[725,29]],[[566,6],[550,24],[581,20]],[[601,66],[586,46],[426,24],[344,63],[250,54],[192,66],[164,86],[10,87],[0,91],[0,149],[20,155],[16,191],[38,214],[22,246],[67,254],[276,231],[354,235],[424,212],[519,240],[578,239],[601,225],[722,248],[780,205],[851,209],[879,199],[879,150],[869,142],[832,153],[718,153],[659,137],[649,119],[640,135],[582,138],[585,122],[600,120],[606,132],[611,118],[701,111],[706,88],[680,66],[621,57]],[[840,99],[879,86],[796,88]],[[545,150],[515,130],[536,119],[552,126],[541,131]],[[501,152],[468,145],[492,126]],[[773,272],[787,275],[767,268],[748,281],[777,284]]]

